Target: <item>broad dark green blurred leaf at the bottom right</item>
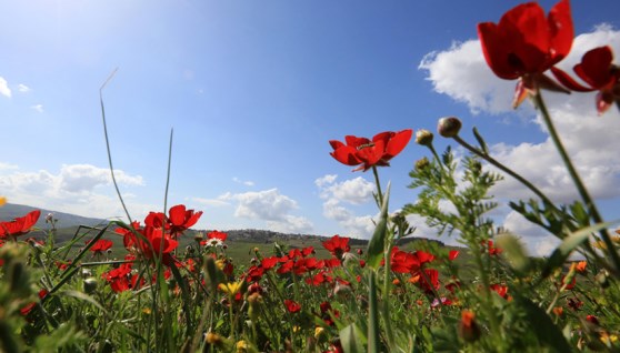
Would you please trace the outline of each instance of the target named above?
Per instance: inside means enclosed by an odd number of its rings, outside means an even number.
[[[562,331],[547,313],[537,304],[527,297],[519,296],[517,299],[519,307],[523,309],[526,317],[530,322],[530,327],[538,340],[548,345],[552,352],[571,352],[572,349],[568,344]]]

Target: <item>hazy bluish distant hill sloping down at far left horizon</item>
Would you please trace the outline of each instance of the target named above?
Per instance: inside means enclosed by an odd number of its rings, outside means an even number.
[[[70,228],[77,225],[98,225],[98,224],[107,224],[108,221],[102,219],[93,219],[88,216],[76,215],[71,213],[58,212],[52,210],[46,210],[40,208],[33,208],[23,204],[13,204],[7,203],[0,208],[0,221],[12,221],[18,216],[23,216],[28,212],[41,210],[41,216],[37,222],[37,226],[41,229],[47,229],[49,224],[46,224],[46,216],[48,213],[52,213],[54,220],[58,220],[57,226],[58,228]]]

